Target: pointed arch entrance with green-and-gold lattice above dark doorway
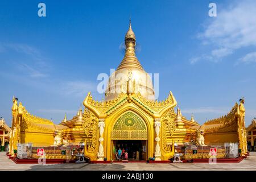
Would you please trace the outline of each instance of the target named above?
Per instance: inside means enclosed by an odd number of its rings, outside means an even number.
[[[118,149],[128,152],[129,160],[147,160],[148,129],[137,113],[126,111],[114,122],[111,132],[112,159]],[[124,156],[123,156],[124,157]]]

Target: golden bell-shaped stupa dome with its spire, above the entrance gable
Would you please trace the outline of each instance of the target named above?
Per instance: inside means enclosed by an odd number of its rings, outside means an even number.
[[[125,35],[125,57],[119,64],[117,70],[109,77],[108,86],[105,91],[105,100],[113,100],[119,93],[141,93],[148,100],[155,100],[152,79],[144,71],[141,63],[135,55],[136,39],[131,29]]]

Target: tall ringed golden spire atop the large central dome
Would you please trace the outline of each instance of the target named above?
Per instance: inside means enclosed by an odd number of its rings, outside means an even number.
[[[123,57],[123,60],[118,66],[117,70],[122,68],[137,68],[137,69],[143,70],[141,63],[139,63],[139,60],[136,57],[135,46],[136,46],[136,37],[133,29],[131,28],[131,19],[130,19],[129,29],[125,35],[125,47],[126,47],[125,57]]]

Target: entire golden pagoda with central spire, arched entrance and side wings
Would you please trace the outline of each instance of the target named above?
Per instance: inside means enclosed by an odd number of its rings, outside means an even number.
[[[192,115],[185,118],[175,107],[172,92],[164,101],[155,100],[151,77],[136,57],[136,38],[129,24],[125,35],[125,56],[109,77],[105,100],[95,101],[89,92],[77,115],[59,125],[35,117],[13,100],[13,124],[10,154],[17,143],[33,146],[60,146],[67,136],[69,143],[84,143],[84,155],[90,160],[114,160],[118,148],[137,146],[139,159],[168,160],[175,154],[175,145],[191,141],[199,146],[214,143],[238,142],[245,155],[246,129],[243,99],[230,113],[199,125]],[[128,150],[129,151],[129,150]]]

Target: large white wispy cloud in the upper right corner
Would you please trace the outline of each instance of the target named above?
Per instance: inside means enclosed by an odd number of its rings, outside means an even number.
[[[220,61],[237,49],[256,46],[256,1],[232,1],[225,9],[218,9],[217,17],[205,24],[198,35],[204,46],[212,46],[208,57],[197,56],[191,64],[201,60]]]

